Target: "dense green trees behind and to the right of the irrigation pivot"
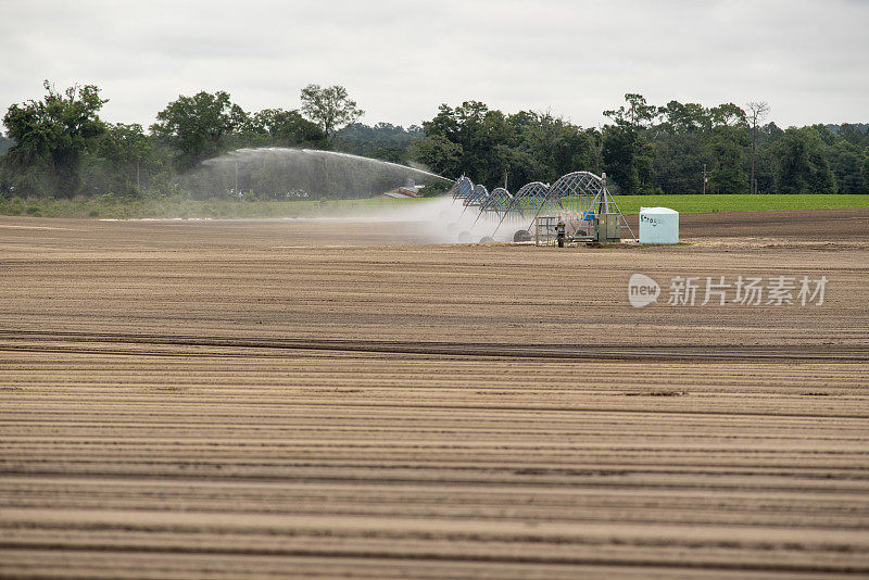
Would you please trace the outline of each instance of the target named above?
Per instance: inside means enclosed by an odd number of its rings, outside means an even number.
[[[754,141],[758,193],[869,193],[866,125],[755,128],[733,103],[655,106],[633,93],[604,114],[612,122],[602,129],[583,129],[549,113],[441,105],[414,153],[436,172],[490,188],[588,169],[605,172],[624,194],[748,193]]]

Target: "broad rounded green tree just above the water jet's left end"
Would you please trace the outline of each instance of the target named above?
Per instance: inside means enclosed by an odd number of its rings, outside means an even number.
[[[156,118],[151,133],[175,150],[175,164],[181,171],[226,151],[228,136],[249,122],[244,110],[222,90],[181,94]]]

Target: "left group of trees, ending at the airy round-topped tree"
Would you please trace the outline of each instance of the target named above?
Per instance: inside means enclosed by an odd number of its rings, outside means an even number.
[[[177,177],[207,159],[253,147],[331,149],[336,128],[363,114],[342,87],[310,85],[301,110],[257,112],[225,91],[201,91],[169,102],[146,131],[102,121],[108,100],[97,86],[58,91],[46,81],[45,90],[42,99],[13,104],[3,116],[0,194],[178,193]]]

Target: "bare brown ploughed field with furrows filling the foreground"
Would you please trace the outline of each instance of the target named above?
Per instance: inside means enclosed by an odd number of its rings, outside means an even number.
[[[869,575],[869,210],[681,218],[0,218],[0,577]],[[829,282],[667,305],[740,275]]]

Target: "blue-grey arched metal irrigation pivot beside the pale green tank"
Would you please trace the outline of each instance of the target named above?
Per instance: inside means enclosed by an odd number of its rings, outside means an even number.
[[[571,172],[551,186],[541,181],[526,184],[515,194],[503,187],[489,191],[462,176],[451,193],[453,203],[464,205],[458,219],[449,226],[450,230],[461,231],[458,241],[470,241],[475,231],[483,229],[491,234],[480,241],[492,241],[505,227],[514,230],[513,241],[550,243],[559,230],[566,241],[619,241],[621,228],[637,239],[606,189],[606,174]],[[564,227],[559,228],[559,224]]]

